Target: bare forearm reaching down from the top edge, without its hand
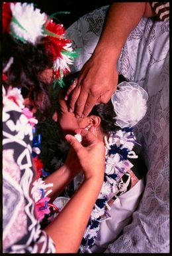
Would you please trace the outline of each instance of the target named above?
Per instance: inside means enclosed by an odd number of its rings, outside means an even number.
[[[142,17],[153,15],[149,3],[113,3],[94,54],[116,61],[130,32]]]

